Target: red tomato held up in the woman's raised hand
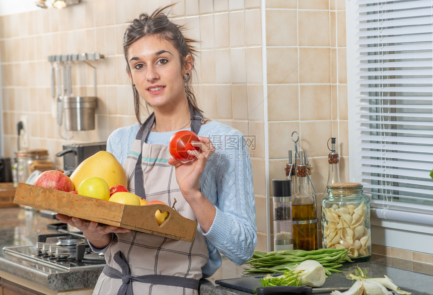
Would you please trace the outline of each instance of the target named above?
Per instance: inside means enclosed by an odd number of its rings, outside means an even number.
[[[170,138],[170,154],[178,161],[187,162],[195,158],[189,155],[187,151],[197,150],[201,152],[201,147],[195,147],[191,141],[199,141],[197,135],[188,130],[178,131]]]

